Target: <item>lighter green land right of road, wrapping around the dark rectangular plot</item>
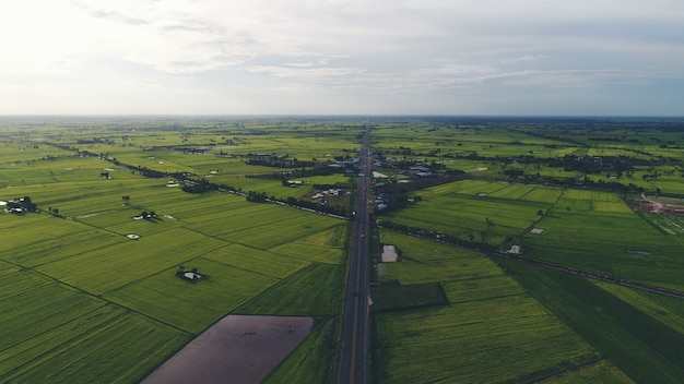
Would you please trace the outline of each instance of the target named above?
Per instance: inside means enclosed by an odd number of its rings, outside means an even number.
[[[376,314],[378,383],[532,382],[578,372],[629,382],[483,255],[391,232],[382,242],[403,256],[387,264],[387,278],[438,281],[450,304]]]

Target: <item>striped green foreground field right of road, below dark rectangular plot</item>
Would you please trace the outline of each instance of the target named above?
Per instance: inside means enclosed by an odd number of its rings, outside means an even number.
[[[523,296],[379,314],[378,333],[379,383],[506,382],[597,357]]]

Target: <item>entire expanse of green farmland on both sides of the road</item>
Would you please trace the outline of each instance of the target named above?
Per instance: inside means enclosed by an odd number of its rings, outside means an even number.
[[[350,221],[239,192],[315,203],[315,184],[351,187],[365,121],[0,121],[0,204],[37,204],[0,213],[0,382],[139,382],[229,313],[315,316],[266,383],[333,382]],[[397,203],[375,218],[470,247],[381,232],[401,262],[378,276],[410,295],[375,291],[387,309],[374,313],[375,382],[684,376],[682,301],[479,253],[517,244],[524,257],[684,291],[684,219],[630,206],[641,193],[684,196],[680,120],[368,121],[374,170],[389,176],[374,181]],[[343,160],[346,172],[328,167]],[[203,277],[178,278],[181,266]]]

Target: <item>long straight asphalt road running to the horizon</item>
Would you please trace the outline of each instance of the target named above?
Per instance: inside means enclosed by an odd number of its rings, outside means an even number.
[[[368,382],[368,184],[370,176],[370,134],[366,123],[358,177],[358,196],[349,276],[342,316],[342,334],[338,358],[337,383]]]

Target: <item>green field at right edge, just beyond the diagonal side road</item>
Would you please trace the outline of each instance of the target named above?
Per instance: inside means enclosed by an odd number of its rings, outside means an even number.
[[[523,254],[608,276],[682,289],[681,244],[641,219],[616,194],[567,190],[527,235]]]

